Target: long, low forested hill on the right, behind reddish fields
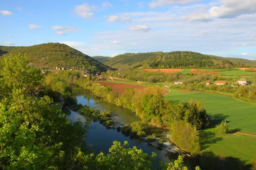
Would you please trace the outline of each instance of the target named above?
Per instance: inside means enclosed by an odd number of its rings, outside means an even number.
[[[234,68],[256,66],[247,59],[231,60],[191,51],[125,53],[104,60],[102,63],[112,68],[131,66],[132,68]],[[249,60],[250,61],[250,60]]]

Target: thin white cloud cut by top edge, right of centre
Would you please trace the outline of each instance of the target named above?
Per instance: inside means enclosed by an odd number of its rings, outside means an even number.
[[[193,3],[193,2],[197,2],[197,1],[201,1],[201,0],[153,0],[148,5],[151,8],[157,8],[160,6],[167,6],[167,5],[172,5],[172,4],[185,5],[185,4],[189,4],[189,3]]]

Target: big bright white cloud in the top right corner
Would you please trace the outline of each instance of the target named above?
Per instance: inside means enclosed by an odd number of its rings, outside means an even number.
[[[220,6],[209,9],[210,16],[218,18],[232,18],[253,13],[256,13],[256,0],[221,0]]]

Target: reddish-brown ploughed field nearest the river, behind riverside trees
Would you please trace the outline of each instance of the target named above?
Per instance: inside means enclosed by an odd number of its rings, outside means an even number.
[[[125,88],[137,88],[137,89],[143,89],[147,88],[147,86],[144,85],[131,85],[131,84],[122,84],[122,83],[116,83],[116,82],[96,82],[101,85],[110,85],[112,87],[112,90],[118,91],[120,94],[125,92]],[[169,93],[168,90],[163,89],[163,94]]]

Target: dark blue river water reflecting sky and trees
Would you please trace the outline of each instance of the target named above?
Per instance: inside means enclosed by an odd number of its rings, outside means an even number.
[[[111,111],[112,119],[118,125],[130,124],[140,120],[130,110],[102,101],[88,91],[76,92],[76,99],[78,100],[78,104],[81,103],[82,105],[87,105],[91,108],[98,109],[99,111]],[[117,116],[118,119],[115,119],[115,116]],[[81,119],[82,122],[84,119],[83,116],[74,111],[71,111],[71,113],[68,115],[68,118],[71,121]],[[148,135],[155,133],[157,138],[162,139],[164,142],[169,142],[168,138],[166,137],[168,130],[149,125],[145,125],[144,128]],[[90,150],[96,154],[98,154],[100,151],[108,153],[108,149],[112,146],[113,141],[119,141],[121,143],[128,141],[130,147],[136,146],[138,149],[142,149],[144,153],[148,153],[150,155],[152,152],[157,153],[153,168],[159,166],[159,161],[166,163],[169,160],[177,159],[178,156],[177,153],[168,152],[166,150],[160,149],[159,147],[148,144],[147,142],[143,141],[143,139],[135,138],[132,136],[125,136],[121,132],[118,132],[116,129],[105,127],[99,122],[93,122],[90,124],[90,129],[88,130],[84,141],[89,146]],[[190,169],[189,162],[189,158],[184,159],[184,163]]]

